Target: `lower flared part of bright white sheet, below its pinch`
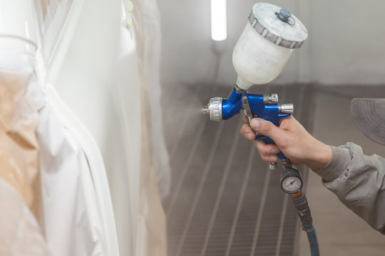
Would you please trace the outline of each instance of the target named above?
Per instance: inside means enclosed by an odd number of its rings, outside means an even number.
[[[98,147],[51,85],[39,110],[42,210],[53,255],[118,255],[116,224]]]

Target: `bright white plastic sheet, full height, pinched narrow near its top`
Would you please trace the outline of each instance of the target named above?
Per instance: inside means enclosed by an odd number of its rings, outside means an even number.
[[[63,36],[71,36],[66,23],[76,21],[83,1],[35,1],[35,5],[40,27],[36,82],[46,96],[46,107],[39,111],[37,132],[41,182],[46,185],[42,191],[41,223],[47,244],[54,255],[119,255],[101,153],[48,79],[55,71],[53,60],[67,50],[61,44]],[[68,35],[66,29],[70,30]]]

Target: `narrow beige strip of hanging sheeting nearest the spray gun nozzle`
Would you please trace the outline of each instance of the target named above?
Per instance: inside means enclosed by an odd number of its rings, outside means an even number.
[[[165,233],[165,215],[162,212],[160,214],[160,201],[158,198],[158,188],[155,184],[155,172],[153,165],[153,156],[148,152],[153,153],[156,150],[161,150],[162,145],[155,146],[153,142],[157,139],[153,139],[153,135],[163,137],[163,134],[153,132],[150,128],[158,129],[158,125],[162,125],[154,122],[159,119],[153,119],[152,107],[158,107],[160,109],[160,101],[156,101],[156,98],[160,97],[159,81],[150,78],[151,75],[155,75],[159,72],[159,63],[157,61],[160,58],[160,21],[158,19],[158,6],[155,1],[148,1],[147,4],[144,1],[133,1],[135,9],[133,11],[133,21],[136,36],[136,47],[138,51],[138,65],[140,75],[140,99],[142,105],[142,159],[141,159],[141,193],[140,193],[140,221],[138,222],[138,247],[135,255],[166,255],[166,233]],[[144,10],[146,9],[146,11]],[[153,21],[157,22],[155,27]],[[152,36],[153,35],[153,36]],[[151,56],[155,58],[155,63],[151,63]],[[149,82],[155,82],[154,87],[151,87]],[[154,93],[151,97],[151,93]],[[150,104],[150,100],[155,99],[153,105]],[[156,106],[157,102],[159,106]],[[155,114],[160,114],[155,110]],[[160,129],[160,128],[159,128]],[[162,131],[162,129],[160,129]],[[158,140],[162,143],[161,139]],[[163,140],[164,142],[164,140]],[[167,152],[167,151],[166,151]],[[167,153],[166,153],[167,154]],[[160,156],[161,154],[159,154]],[[168,154],[166,155],[168,164]],[[170,171],[170,169],[163,169],[163,171]],[[169,174],[166,174],[169,175]],[[158,172],[158,178],[161,175]],[[167,177],[167,176],[166,176]],[[167,181],[167,180],[165,180]],[[147,222],[147,223],[146,223]]]

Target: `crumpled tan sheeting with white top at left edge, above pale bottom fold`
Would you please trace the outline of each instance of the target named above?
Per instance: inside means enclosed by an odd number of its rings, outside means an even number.
[[[27,87],[31,68],[12,55],[0,55],[0,177],[37,213],[39,208],[39,114]]]

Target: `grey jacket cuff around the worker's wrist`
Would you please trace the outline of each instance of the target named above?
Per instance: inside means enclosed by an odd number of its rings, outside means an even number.
[[[326,166],[313,170],[316,174],[321,176],[324,181],[334,181],[335,178],[341,176],[347,170],[350,161],[349,149],[331,146],[333,151],[332,160]]]

